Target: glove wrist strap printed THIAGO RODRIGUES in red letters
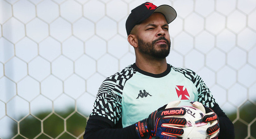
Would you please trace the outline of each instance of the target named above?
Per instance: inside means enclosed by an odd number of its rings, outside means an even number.
[[[135,126],[136,126],[136,132],[140,139],[149,139],[150,138],[146,119],[136,122]]]

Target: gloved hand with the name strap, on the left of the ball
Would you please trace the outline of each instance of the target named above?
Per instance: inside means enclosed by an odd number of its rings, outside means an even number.
[[[184,130],[180,127],[184,126],[187,121],[185,118],[166,117],[185,115],[184,108],[177,107],[180,101],[173,101],[151,113],[148,118],[136,123],[136,131],[140,139],[148,139],[150,137],[178,139],[176,135],[182,135]],[[178,127],[179,126],[179,127]]]

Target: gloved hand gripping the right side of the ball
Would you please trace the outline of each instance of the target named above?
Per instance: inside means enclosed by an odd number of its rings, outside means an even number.
[[[219,120],[218,116],[213,112],[212,109],[206,107],[202,103],[195,101],[190,102],[193,107],[196,107],[203,111],[206,115],[203,117],[203,122],[211,122],[211,127],[207,128],[206,132],[211,135],[210,139],[217,139],[219,133]]]

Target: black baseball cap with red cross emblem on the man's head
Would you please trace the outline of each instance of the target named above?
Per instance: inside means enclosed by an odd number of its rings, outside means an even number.
[[[127,35],[130,34],[131,29],[136,25],[150,17],[154,12],[162,13],[167,23],[171,23],[176,17],[176,11],[169,5],[155,6],[153,3],[145,2],[133,10],[131,10],[130,15],[126,20],[126,32]]]

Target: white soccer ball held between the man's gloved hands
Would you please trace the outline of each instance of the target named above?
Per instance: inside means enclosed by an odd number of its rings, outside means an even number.
[[[180,106],[186,109],[184,116],[166,116],[166,117],[180,117],[185,118],[187,123],[182,129],[184,133],[178,137],[182,139],[209,139],[210,135],[206,130],[211,126],[211,122],[202,122],[204,112],[192,106]]]

